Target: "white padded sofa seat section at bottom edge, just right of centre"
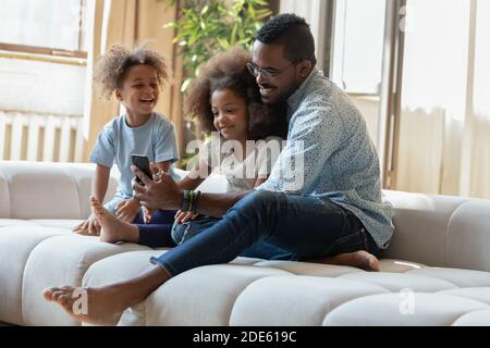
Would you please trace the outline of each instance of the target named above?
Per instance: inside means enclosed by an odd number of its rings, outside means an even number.
[[[268,276],[248,285],[233,303],[231,325],[319,326],[328,312],[387,289],[363,282],[318,276]]]

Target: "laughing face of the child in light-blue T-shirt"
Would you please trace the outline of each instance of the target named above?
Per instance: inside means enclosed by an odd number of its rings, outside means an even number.
[[[126,72],[122,86],[115,90],[119,101],[127,113],[135,117],[147,117],[154,111],[160,85],[156,70],[150,65],[133,65]]]

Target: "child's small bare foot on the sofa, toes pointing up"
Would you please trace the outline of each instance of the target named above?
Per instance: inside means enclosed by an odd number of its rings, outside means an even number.
[[[103,206],[95,197],[90,197],[90,206],[94,215],[101,226],[101,241],[139,241],[139,228],[137,226],[128,224],[115,217],[115,215],[111,214],[109,210],[103,208]]]

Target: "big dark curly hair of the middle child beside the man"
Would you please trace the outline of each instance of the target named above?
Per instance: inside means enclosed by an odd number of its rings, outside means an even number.
[[[250,53],[241,46],[212,57],[189,86],[184,114],[195,116],[205,130],[215,130],[211,95],[216,90],[231,89],[247,104],[249,139],[258,140],[272,135],[285,138],[285,116],[278,109],[261,102],[259,88],[246,67],[250,59]]]

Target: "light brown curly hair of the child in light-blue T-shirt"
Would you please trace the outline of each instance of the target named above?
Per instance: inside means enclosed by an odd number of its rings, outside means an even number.
[[[167,63],[159,53],[150,50],[146,45],[128,50],[120,45],[113,45],[97,63],[94,79],[100,84],[102,96],[110,99],[117,88],[121,88],[130,67],[134,65],[149,65],[157,72],[157,79],[161,86],[168,79]]]

